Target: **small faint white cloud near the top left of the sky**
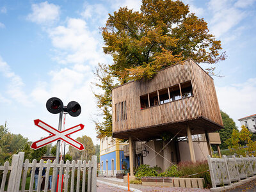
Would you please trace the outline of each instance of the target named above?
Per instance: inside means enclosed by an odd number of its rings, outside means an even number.
[[[60,6],[47,1],[39,4],[32,4],[32,13],[27,17],[28,20],[37,24],[51,24],[60,17]]]

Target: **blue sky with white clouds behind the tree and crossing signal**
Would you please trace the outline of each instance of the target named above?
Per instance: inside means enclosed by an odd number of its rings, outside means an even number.
[[[216,67],[214,77],[220,108],[237,122],[256,113],[256,2],[255,0],[186,0],[191,12],[203,17],[221,40],[227,60]],[[128,6],[140,10],[141,1],[0,1],[0,124],[31,141],[47,134],[33,125],[40,118],[58,127],[58,115],[45,108],[50,97],[67,105],[81,104],[77,118],[67,116],[66,128],[84,124],[94,143],[92,118],[99,113],[93,98],[93,69],[111,63],[102,52],[102,36],[108,13]],[[208,67],[202,65],[202,67]],[[99,117],[100,118],[100,117]]]

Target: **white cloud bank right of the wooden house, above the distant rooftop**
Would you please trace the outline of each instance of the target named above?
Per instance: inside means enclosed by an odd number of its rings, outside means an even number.
[[[240,127],[237,119],[255,114],[256,78],[248,79],[248,81],[241,84],[216,86],[216,92],[220,109],[230,115],[237,126]]]

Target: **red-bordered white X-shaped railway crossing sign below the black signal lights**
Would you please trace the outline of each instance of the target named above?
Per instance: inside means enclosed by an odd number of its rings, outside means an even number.
[[[53,127],[45,124],[45,122],[42,122],[39,119],[34,120],[34,122],[36,126],[40,127],[41,129],[44,129],[51,135],[46,138],[43,138],[42,140],[35,141],[34,143],[32,143],[31,148],[38,149],[44,147],[45,145],[48,145],[49,143],[52,143],[53,141],[63,140],[69,145],[77,148],[78,150],[84,150],[84,145],[82,143],[79,143],[78,141],[70,138],[70,134],[73,134],[74,132],[84,129],[83,124],[76,125],[64,131],[58,131],[57,129],[54,129]]]

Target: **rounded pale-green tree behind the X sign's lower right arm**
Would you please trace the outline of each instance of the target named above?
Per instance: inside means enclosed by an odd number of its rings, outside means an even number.
[[[70,154],[74,160],[81,159],[88,162],[92,159],[92,156],[95,155],[95,147],[93,146],[92,138],[84,135],[76,138],[76,140],[84,145],[84,150],[79,151],[76,148],[69,146],[68,154]]]

